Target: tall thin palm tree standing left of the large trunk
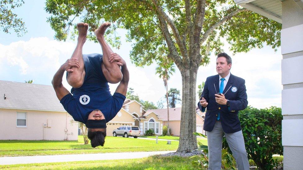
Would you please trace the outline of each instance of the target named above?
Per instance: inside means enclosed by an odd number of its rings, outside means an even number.
[[[167,81],[170,79],[170,75],[175,72],[173,62],[169,61],[167,57],[160,62],[157,62],[156,74],[159,74],[159,78],[163,79],[164,87],[166,87],[166,102],[167,102],[167,136],[170,136],[170,114],[169,114],[169,102],[168,102],[168,86]]]

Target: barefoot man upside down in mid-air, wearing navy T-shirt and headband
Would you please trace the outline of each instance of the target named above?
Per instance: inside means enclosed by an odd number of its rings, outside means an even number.
[[[104,33],[109,26],[110,23],[103,23],[95,30],[103,55],[86,55],[82,54],[82,48],[86,41],[88,24],[77,24],[79,36],[76,49],[52,80],[64,109],[74,120],[84,123],[88,128],[88,138],[92,147],[104,145],[106,123],[120,111],[129,82],[125,61],[120,55],[113,53],[105,42]],[[62,85],[65,71],[73,95]],[[108,82],[113,84],[120,82],[114,95],[109,91]]]

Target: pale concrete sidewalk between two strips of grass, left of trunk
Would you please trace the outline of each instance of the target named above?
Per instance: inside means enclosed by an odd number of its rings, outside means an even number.
[[[38,155],[38,156],[11,156],[0,157],[0,165],[25,164],[25,163],[50,163],[50,162],[71,162],[88,160],[112,160],[112,159],[136,159],[151,155],[160,155],[170,151],[152,151],[152,152],[118,152],[101,154],[72,154],[72,155]]]

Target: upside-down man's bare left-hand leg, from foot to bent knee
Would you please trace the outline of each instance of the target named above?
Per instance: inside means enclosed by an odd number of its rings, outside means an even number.
[[[79,32],[78,42],[77,42],[76,49],[75,49],[74,53],[72,54],[71,58],[78,59],[80,67],[79,68],[72,67],[71,69],[74,72],[68,73],[68,76],[67,76],[68,84],[70,84],[70,86],[72,86],[74,88],[81,87],[84,82],[85,71],[84,71],[84,61],[83,61],[83,56],[82,56],[82,48],[86,41],[88,24],[87,23],[78,23],[77,28],[78,28],[78,32]]]

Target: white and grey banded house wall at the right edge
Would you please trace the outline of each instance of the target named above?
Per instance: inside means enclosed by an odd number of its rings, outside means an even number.
[[[282,2],[282,145],[283,168],[303,167],[303,10]]]

